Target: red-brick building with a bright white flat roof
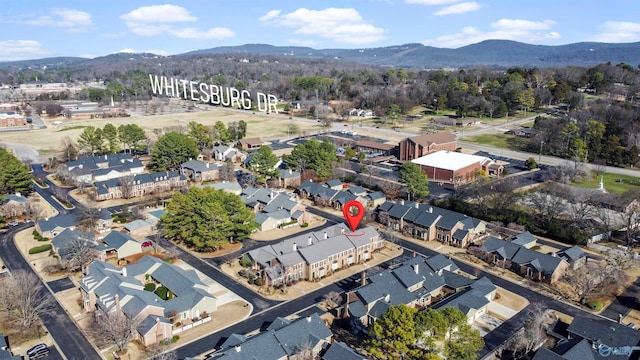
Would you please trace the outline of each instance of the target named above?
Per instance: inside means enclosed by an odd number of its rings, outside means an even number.
[[[461,185],[474,181],[483,171],[488,176],[502,176],[504,167],[485,156],[441,150],[411,160],[420,165],[429,181]]]

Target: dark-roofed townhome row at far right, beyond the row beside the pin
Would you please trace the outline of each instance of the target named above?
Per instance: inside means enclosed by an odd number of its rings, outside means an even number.
[[[493,236],[489,236],[473,253],[490,264],[509,269],[528,279],[551,284],[561,279],[569,267],[564,258],[555,254],[543,254]]]

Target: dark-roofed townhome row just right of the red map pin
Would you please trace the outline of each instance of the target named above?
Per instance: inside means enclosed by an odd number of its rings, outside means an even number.
[[[379,223],[424,241],[468,247],[487,237],[484,221],[429,204],[386,201],[376,211]]]

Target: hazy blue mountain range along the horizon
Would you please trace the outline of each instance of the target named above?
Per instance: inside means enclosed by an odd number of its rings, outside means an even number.
[[[392,66],[414,69],[466,68],[487,66],[494,68],[593,66],[600,63],[640,64],[640,42],[595,43],[581,42],[567,45],[531,45],[510,40],[486,40],[457,49],[436,48],[422,44],[405,44],[360,49],[313,49],[296,46],[246,44],[222,46],[191,51],[170,57],[190,55],[272,56],[299,59],[324,59],[367,65]],[[157,57],[153,54],[119,53],[105,57],[86,59],[57,57],[39,60],[23,60],[0,63],[0,68],[42,65],[86,65],[105,61],[131,60],[132,57]]]

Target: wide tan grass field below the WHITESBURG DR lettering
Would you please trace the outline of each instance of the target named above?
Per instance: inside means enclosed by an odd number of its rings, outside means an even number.
[[[118,127],[122,124],[138,124],[146,132],[147,136],[155,139],[154,129],[170,127],[185,127],[190,121],[204,125],[213,125],[216,121],[228,124],[233,121],[244,120],[247,123],[247,137],[271,138],[287,135],[289,125],[295,124],[300,133],[320,130],[320,126],[309,121],[300,121],[296,118],[276,114],[252,113],[249,111],[234,110],[228,108],[207,108],[205,111],[180,112],[164,115],[133,115],[125,118],[110,119],[82,119],[72,120],[65,118],[43,118],[48,128],[30,131],[2,133],[2,142],[29,145],[39,152],[55,152],[60,146],[60,140],[69,137],[76,140],[86,126],[103,127],[111,123]],[[62,121],[60,125],[54,125],[54,121]]]

